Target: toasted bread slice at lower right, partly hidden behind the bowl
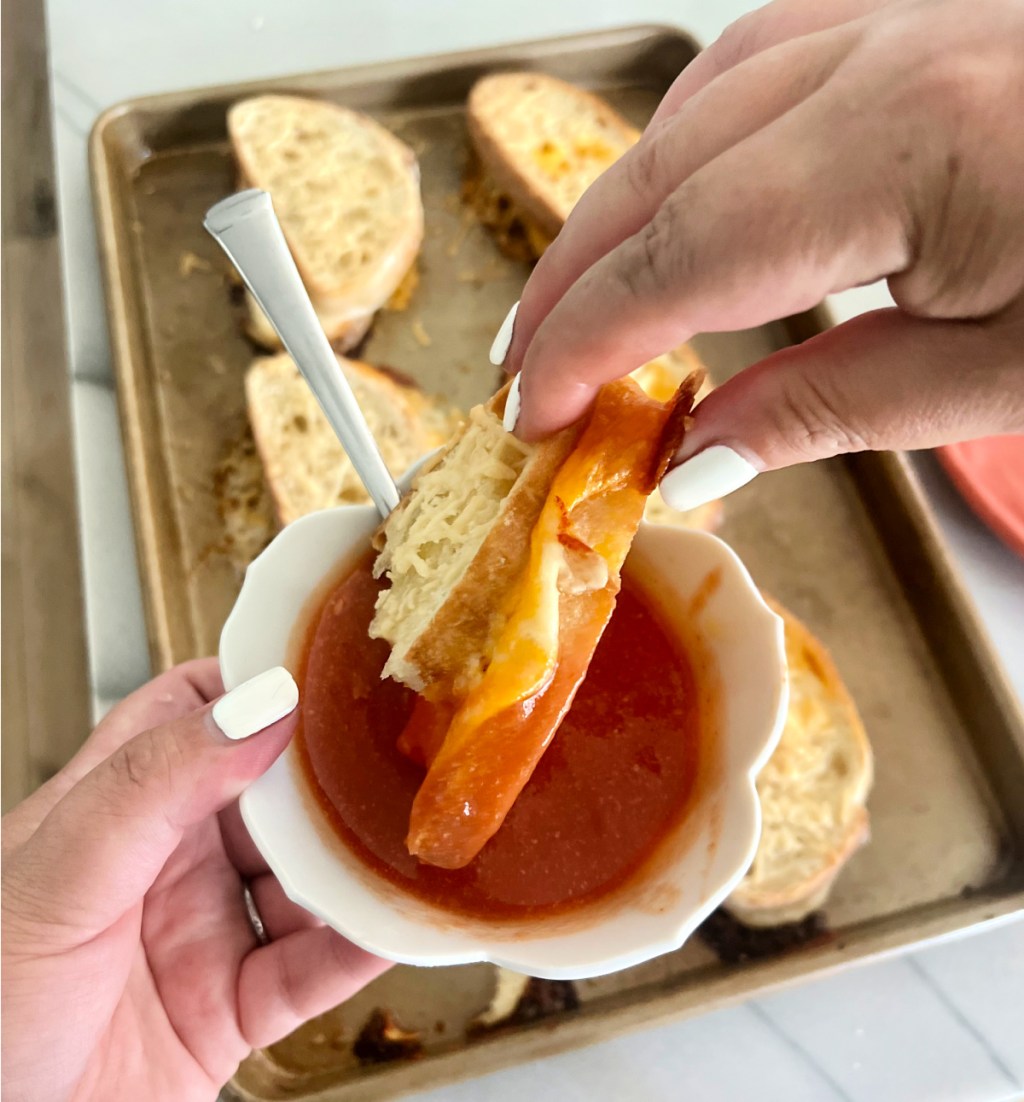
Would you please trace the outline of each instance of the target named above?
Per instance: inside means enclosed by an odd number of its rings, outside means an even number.
[[[757,778],[757,855],[726,908],[748,926],[795,922],[823,903],[867,839],[873,761],[863,724],[829,652],[786,609],[789,712]]]

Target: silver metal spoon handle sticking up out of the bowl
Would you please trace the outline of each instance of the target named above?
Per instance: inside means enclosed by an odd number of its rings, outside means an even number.
[[[327,343],[284,240],[267,192],[251,188],[222,199],[203,223],[259,303],[291,354],[348,453],[381,517],[398,505],[398,487],[385,465],[352,387]]]

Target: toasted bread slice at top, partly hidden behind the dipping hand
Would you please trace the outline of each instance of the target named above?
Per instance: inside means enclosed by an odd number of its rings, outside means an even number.
[[[583,192],[639,138],[599,96],[541,73],[477,80],[466,120],[476,161],[464,195],[520,258],[543,252]]]

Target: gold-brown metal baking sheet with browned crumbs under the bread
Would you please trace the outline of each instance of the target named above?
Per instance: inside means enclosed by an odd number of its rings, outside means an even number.
[[[216,650],[239,575],[216,493],[245,431],[240,335],[225,264],[202,228],[234,169],[224,112],[257,91],[314,94],[371,111],[416,150],[427,238],[407,310],[382,313],[362,356],[467,406],[495,383],[486,352],[526,278],[457,198],[463,102],[484,72],[533,66],[602,90],[643,125],[692,42],[639,28],[343,73],[152,97],[107,112],[93,171],[143,571],[159,667]],[[698,339],[714,379],[824,324]],[[724,965],[699,938],[579,985],[581,1008],[470,1041],[493,970],[396,969],[239,1070],[239,1098],[394,1098],[707,1011],[768,986],[1024,906],[1024,722],[951,569],[913,474],[894,455],[779,472],[727,501],[721,534],[755,580],[832,650],[875,750],[872,842],[842,873],[823,934]],[[425,1057],[360,1067],[352,1040],[387,1006],[421,1028]]]

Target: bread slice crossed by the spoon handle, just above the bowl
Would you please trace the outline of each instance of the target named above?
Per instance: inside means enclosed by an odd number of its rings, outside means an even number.
[[[369,364],[342,356],[337,360],[396,477],[448,440],[456,422],[451,410]],[[252,363],[246,375],[246,402],[282,525],[316,509],[367,500],[355,468],[290,356],[282,353]]]

